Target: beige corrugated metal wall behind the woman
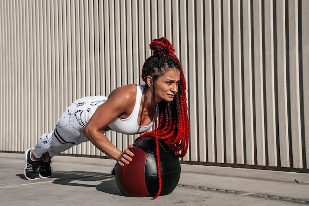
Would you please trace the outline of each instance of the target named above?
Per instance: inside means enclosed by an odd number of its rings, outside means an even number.
[[[0,150],[75,99],[142,83],[152,39],[188,84],[184,163],[309,172],[308,0],[0,0]],[[109,132],[120,149],[135,136]],[[65,153],[104,156],[89,142]],[[299,170],[298,170],[299,169]]]

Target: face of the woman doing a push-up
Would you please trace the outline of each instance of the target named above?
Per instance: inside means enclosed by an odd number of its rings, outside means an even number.
[[[179,84],[179,69],[167,69],[165,73],[154,82],[155,103],[159,103],[162,100],[172,102],[175,94],[178,92]]]

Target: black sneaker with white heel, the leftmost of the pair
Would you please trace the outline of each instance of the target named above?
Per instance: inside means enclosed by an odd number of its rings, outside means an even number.
[[[29,180],[39,179],[39,161],[31,160],[30,152],[32,149],[27,149],[25,152],[25,177]]]

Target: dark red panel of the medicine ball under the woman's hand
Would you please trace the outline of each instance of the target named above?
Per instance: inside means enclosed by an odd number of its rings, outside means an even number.
[[[146,197],[149,192],[145,181],[145,165],[148,154],[137,147],[131,151],[134,154],[132,162],[123,167],[115,166],[116,184],[122,194],[130,197]]]

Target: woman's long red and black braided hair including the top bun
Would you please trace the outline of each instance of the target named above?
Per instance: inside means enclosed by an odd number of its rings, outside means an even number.
[[[160,169],[159,140],[172,147],[178,157],[184,157],[187,153],[189,143],[189,119],[186,97],[186,81],[182,66],[174,54],[173,45],[165,37],[154,39],[150,43],[150,49],[153,55],[149,57],[142,69],[142,78],[146,82],[148,75],[152,76],[154,81],[162,76],[167,69],[179,69],[180,85],[178,93],[172,102],[161,101],[159,105],[159,121],[156,121],[156,103],[154,100],[155,92],[153,89],[154,101],[154,131],[144,133],[136,140],[143,137],[155,138],[155,155],[158,172],[159,188],[153,198],[156,199],[162,190],[162,178]],[[154,84],[153,84],[154,85]],[[147,86],[147,82],[146,82]]]

